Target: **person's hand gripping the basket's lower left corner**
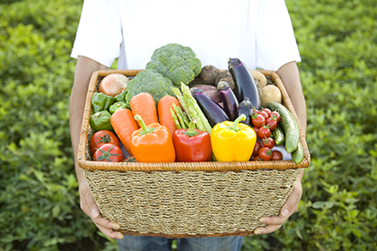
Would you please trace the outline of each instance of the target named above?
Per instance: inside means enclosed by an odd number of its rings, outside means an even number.
[[[117,232],[117,229],[120,229],[118,223],[111,222],[103,218],[100,214],[97,204],[92,197],[92,193],[89,190],[88,183],[86,182],[85,177],[80,182],[79,186],[80,194],[80,207],[89,217],[91,217],[94,224],[98,229],[101,230],[109,238],[123,238],[123,235],[120,232]]]

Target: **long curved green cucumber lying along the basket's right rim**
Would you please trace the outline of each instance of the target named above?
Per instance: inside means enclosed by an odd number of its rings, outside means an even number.
[[[300,129],[292,113],[284,105],[269,102],[267,108],[276,110],[280,114],[280,122],[285,133],[285,150],[289,153],[297,149],[300,141]]]

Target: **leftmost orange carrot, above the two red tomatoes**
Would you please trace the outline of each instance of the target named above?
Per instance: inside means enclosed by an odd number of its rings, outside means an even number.
[[[136,123],[132,111],[127,108],[120,108],[110,117],[110,123],[121,143],[125,146],[129,155],[133,155],[131,151],[131,134],[134,133],[139,126]]]

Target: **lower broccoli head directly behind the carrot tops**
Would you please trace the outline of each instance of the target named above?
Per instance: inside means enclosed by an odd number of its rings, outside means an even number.
[[[141,92],[149,92],[156,103],[165,95],[173,96],[174,93],[171,91],[173,86],[170,79],[165,78],[162,74],[157,73],[154,70],[144,70],[136,74],[135,78],[131,79],[127,83],[127,93],[126,93],[126,106],[130,108],[129,101],[136,94]]]

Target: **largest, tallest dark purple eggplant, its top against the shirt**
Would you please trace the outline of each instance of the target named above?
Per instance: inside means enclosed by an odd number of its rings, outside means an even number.
[[[249,68],[239,58],[228,58],[228,69],[234,80],[234,94],[241,102],[248,97],[255,108],[261,108],[258,87]]]

